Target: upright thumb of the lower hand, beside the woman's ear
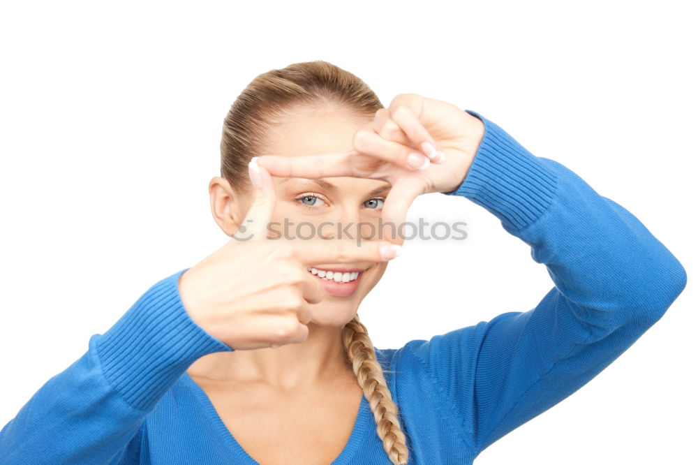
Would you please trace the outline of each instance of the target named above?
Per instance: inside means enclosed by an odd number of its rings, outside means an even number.
[[[232,236],[233,239],[243,242],[267,237],[267,224],[272,219],[274,205],[276,205],[276,191],[272,176],[257,164],[257,158],[253,157],[248,164],[248,173],[253,186],[252,202],[245,219]]]

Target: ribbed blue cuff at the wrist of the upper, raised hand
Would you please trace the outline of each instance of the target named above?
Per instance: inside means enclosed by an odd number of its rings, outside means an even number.
[[[455,191],[481,205],[509,232],[533,223],[552,202],[557,176],[502,128],[473,110],[484,136],[468,173]]]

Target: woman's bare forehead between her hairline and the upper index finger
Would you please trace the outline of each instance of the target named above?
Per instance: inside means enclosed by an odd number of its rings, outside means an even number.
[[[369,121],[339,110],[299,110],[270,128],[265,153],[303,156],[346,152],[352,149],[354,133]]]

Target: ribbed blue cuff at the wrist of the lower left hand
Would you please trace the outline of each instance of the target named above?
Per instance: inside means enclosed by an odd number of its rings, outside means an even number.
[[[232,352],[191,319],[179,295],[179,276],[158,281],[105,334],[97,337],[102,371],[121,397],[143,411],[198,358]]]

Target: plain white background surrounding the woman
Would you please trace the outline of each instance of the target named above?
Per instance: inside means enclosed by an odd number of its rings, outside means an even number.
[[[0,424],[151,284],[223,244],[207,183],[225,113],[256,75],[324,59],[384,105],[415,92],[480,112],[628,208],[688,271],[636,344],[475,463],[690,462],[696,20],[688,1],[5,3]],[[377,347],[526,311],[551,288],[473,202],[424,195],[419,215],[466,221],[468,239],[406,245],[359,309]]]

